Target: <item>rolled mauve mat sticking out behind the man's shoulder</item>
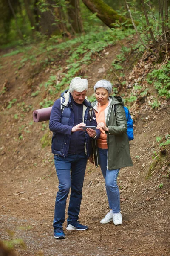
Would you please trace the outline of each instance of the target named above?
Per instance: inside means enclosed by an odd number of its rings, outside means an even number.
[[[52,107],[34,110],[32,113],[34,122],[43,122],[50,120],[51,109]]]

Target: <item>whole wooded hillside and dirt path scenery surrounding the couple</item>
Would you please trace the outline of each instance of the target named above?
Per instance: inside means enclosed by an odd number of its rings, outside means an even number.
[[[1,251],[169,256],[169,17],[168,0],[0,0]],[[118,178],[122,225],[99,223],[108,212],[105,182],[88,163],[79,217],[89,230],[64,226],[66,239],[56,241],[52,134],[32,112],[52,106],[75,76],[88,78],[91,101],[100,79],[124,99],[134,166]]]

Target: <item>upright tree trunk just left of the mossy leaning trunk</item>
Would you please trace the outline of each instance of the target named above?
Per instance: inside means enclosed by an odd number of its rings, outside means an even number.
[[[80,17],[79,0],[70,0],[68,7],[69,23],[75,33],[82,33],[82,20]]]

